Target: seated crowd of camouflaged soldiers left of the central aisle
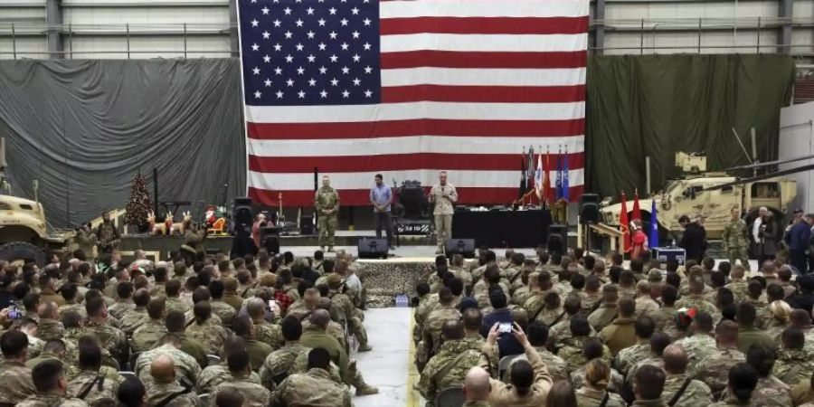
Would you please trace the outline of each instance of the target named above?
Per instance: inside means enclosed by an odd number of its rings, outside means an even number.
[[[378,393],[351,256],[0,262],[0,406],[351,405]]]

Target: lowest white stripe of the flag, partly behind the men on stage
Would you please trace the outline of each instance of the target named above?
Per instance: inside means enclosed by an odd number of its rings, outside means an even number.
[[[433,185],[438,180],[438,172],[446,168],[427,168],[408,171],[377,171],[384,179],[411,179],[421,181],[421,185]],[[458,187],[505,188],[518,183],[519,171],[447,171],[450,183]],[[569,186],[582,185],[584,171],[577,168],[568,171]],[[330,173],[331,186],[337,189],[370,188],[371,173]],[[249,171],[249,186],[273,190],[313,190],[313,173],[258,173]],[[554,184],[552,184],[554,185]]]

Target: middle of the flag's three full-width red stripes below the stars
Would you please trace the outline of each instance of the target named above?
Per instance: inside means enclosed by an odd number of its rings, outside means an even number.
[[[307,153],[307,151],[306,151]],[[416,169],[513,171],[516,154],[384,154],[375,156],[249,156],[249,170],[258,173],[355,173]],[[554,159],[556,155],[553,156]],[[568,155],[569,169],[584,166],[583,153]]]

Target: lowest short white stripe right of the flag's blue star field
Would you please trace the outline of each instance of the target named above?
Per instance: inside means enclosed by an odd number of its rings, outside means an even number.
[[[469,69],[402,68],[382,70],[382,86],[573,86],[585,84],[585,68]]]

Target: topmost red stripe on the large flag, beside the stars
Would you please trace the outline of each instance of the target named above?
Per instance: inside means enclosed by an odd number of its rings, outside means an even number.
[[[465,6],[465,5],[463,5]],[[411,33],[576,34],[588,31],[582,17],[403,17],[383,18],[382,35]]]

